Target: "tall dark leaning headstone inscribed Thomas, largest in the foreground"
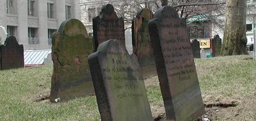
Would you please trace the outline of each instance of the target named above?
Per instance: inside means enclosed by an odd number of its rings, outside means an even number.
[[[193,120],[204,114],[196,66],[184,19],[170,6],[148,22],[168,120]]]

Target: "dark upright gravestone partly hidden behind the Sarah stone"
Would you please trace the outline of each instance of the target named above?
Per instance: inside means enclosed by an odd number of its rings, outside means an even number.
[[[125,45],[123,18],[117,17],[111,4],[104,5],[100,14],[93,18],[93,37],[95,51],[99,44],[109,39],[118,39]]]

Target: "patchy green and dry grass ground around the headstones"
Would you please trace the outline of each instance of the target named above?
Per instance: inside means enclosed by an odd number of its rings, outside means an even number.
[[[195,64],[205,117],[256,120],[256,60],[252,56],[195,59]],[[0,71],[0,120],[100,120],[95,95],[50,102],[52,69],[47,65]],[[145,87],[153,116],[164,116],[157,76],[145,79]]]

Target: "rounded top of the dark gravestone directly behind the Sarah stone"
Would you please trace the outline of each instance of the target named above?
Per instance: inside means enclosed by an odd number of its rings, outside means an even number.
[[[114,7],[111,4],[106,4],[101,8],[101,12],[99,15],[100,18],[104,19],[117,19],[116,12],[114,10]]]

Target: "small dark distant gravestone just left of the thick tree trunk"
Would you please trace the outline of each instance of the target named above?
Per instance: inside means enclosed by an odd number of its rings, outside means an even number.
[[[221,38],[219,35],[215,35],[214,38],[211,40],[211,52],[212,52],[212,57],[217,57],[221,53]]]

